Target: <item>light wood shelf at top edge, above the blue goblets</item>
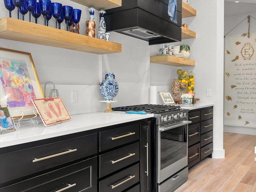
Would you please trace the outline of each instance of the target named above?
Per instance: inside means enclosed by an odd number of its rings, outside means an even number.
[[[122,6],[122,0],[71,0],[84,6],[94,6],[96,10],[100,8],[112,9]]]

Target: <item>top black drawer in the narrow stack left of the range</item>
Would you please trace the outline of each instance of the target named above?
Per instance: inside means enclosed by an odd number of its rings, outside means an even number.
[[[139,130],[139,124],[133,124],[100,132],[100,151],[139,140]]]

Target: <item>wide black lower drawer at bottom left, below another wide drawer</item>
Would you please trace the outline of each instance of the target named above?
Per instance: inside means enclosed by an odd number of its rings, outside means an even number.
[[[64,190],[66,188],[66,190]],[[97,191],[97,157],[0,189],[1,192]]]

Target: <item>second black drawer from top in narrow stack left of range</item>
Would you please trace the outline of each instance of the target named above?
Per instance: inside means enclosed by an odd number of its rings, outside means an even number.
[[[100,177],[140,160],[140,143],[131,144],[100,155]]]

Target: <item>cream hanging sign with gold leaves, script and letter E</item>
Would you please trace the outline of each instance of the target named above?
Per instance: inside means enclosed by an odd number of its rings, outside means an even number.
[[[256,128],[256,33],[225,38],[224,125]]]

